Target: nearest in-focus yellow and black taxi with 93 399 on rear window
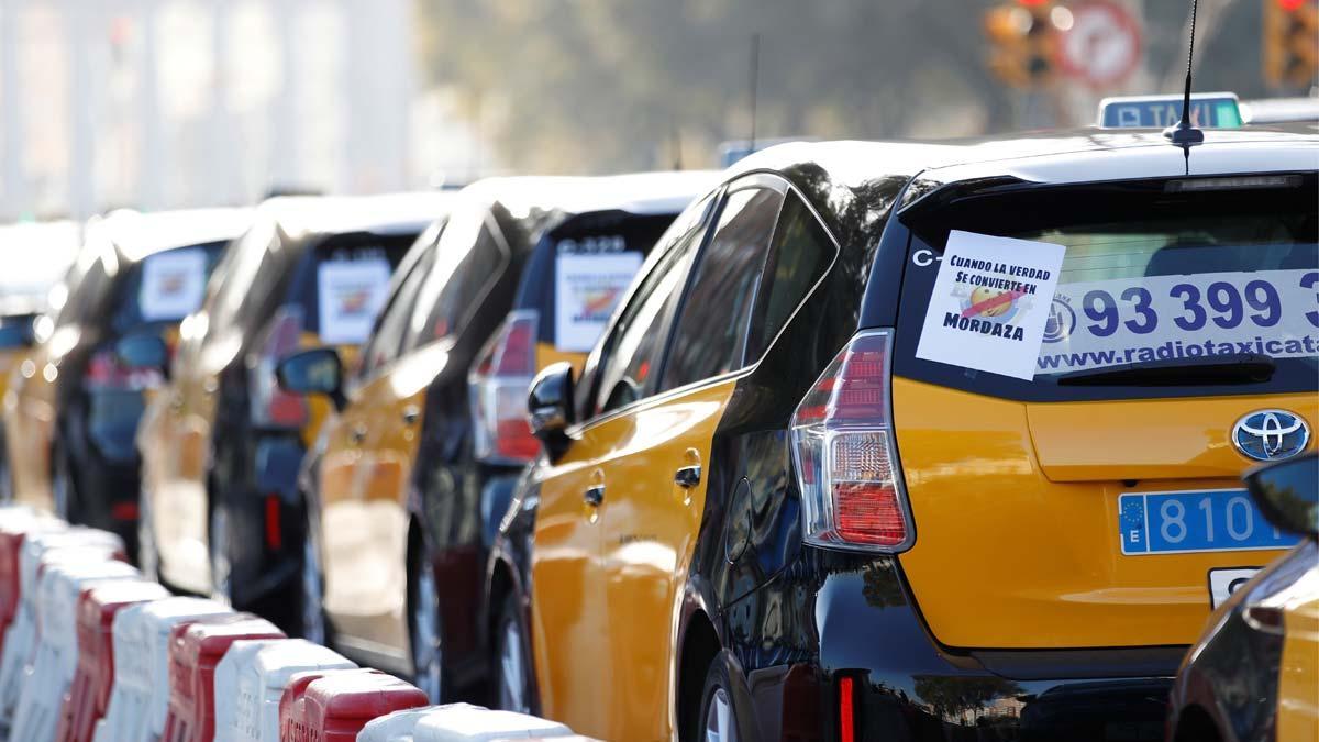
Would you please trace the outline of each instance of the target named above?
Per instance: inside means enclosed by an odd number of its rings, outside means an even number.
[[[1239,487],[1312,445],[1316,210],[1302,132],[739,162],[532,387],[500,702],[607,739],[1159,739],[1211,586],[1297,543]]]

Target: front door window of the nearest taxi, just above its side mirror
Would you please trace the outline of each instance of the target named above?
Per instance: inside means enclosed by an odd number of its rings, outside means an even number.
[[[678,238],[609,330],[599,370],[596,413],[617,409],[654,391],[652,374],[663,353],[665,320],[682,296],[683,279],[703,234],[698,224]]]

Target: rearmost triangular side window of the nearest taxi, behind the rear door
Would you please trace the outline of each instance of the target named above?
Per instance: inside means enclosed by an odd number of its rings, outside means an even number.
[[[774,227],[774,242],[751,321],[747,358],[760,358],[820,280],[836,255],[824,227],[795,195],[789,195]]]

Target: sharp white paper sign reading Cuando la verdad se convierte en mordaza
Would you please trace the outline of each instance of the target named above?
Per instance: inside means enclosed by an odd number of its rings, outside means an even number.
[[[1067,248],[952,231],[917,356],[1030,380]]]

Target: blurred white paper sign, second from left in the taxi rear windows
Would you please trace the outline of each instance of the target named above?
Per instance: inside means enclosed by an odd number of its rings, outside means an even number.
[[[321,342],[365,342],[389,293],[389,261],[372,257],[322,263],[317,267],[317,288]]]

